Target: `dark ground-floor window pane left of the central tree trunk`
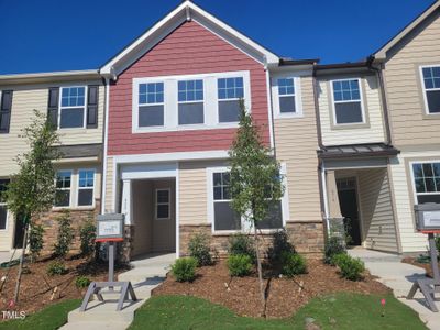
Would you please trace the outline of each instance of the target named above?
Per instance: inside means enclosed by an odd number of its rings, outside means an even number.
[[[213,180],[213,218],[215,230],[240,230],[240,216],[230,205],[229,173],[215,173]]]

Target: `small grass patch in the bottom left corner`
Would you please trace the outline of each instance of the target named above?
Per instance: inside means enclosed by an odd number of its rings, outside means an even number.
[[[78,308],[79,299],[65,300],[51,305],[23,320],[11,320],[0,322],[0,330],[55,330],[67,322],[67,315],[70,310]]]

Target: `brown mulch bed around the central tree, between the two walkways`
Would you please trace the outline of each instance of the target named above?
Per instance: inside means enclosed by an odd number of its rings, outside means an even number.
[[[308,272],[292,279],[265,276],[267,318],[289,317],[311,298],[336,292],[380,295],[391,292],[369,273],[360,282],[343,279],[336,267],[326,265],[320,260],[309,260]],[[153,295],[196,296],[223,305],[240,316],[262,316],[256,274],[231,278],[224,261],[198,268],[197,278],[193,283],[178,283],[168,274],[163,285],[154,289]]]

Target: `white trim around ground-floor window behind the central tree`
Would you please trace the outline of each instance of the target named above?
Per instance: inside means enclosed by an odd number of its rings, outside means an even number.
[[[208,211],[208,222],[211,224],[212,234],[216,235],[230,235],[234,233],[251,233],[251,224],[241,219],[241,230],[216,230],[215,229],[215,211],[213,211],[213,174],[215,173],[224,173],[229,172],[231,168],[228,166],[218,166],[218,167],[207,167],[207,196],[208,196],[208,204],[207,204],[207,211]],[[282,218],[283,218],[283,228],[286,227],[286,218],[289,216],[289,206],[288,206],[288,190],[287,190],[287,169],[286,164],[282,163],[280,174],[284,176],[283,184],[285,185],[286,189],[284,191],[284,196],[282,197]],[[224,200],[223,200],[224,201]],[[273,233],[278,231],[277,229],[262,229],[262,233]]]

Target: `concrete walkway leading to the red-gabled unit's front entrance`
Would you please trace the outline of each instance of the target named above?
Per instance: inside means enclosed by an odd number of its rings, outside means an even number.
[[[68,323],[62,330],[123,330],[134,318],[134,311],[151,297],[153,288],[158,286],[170,270],[176,254],[146,255],[131,262],[132,270],[121,273],[118,280],[130,280],[138,297],[135,302],[125,302],[121,311],[117,311],[118,293],[105,292],[105,302],[94,300],[85,312],[75,309],[68,315]]]

